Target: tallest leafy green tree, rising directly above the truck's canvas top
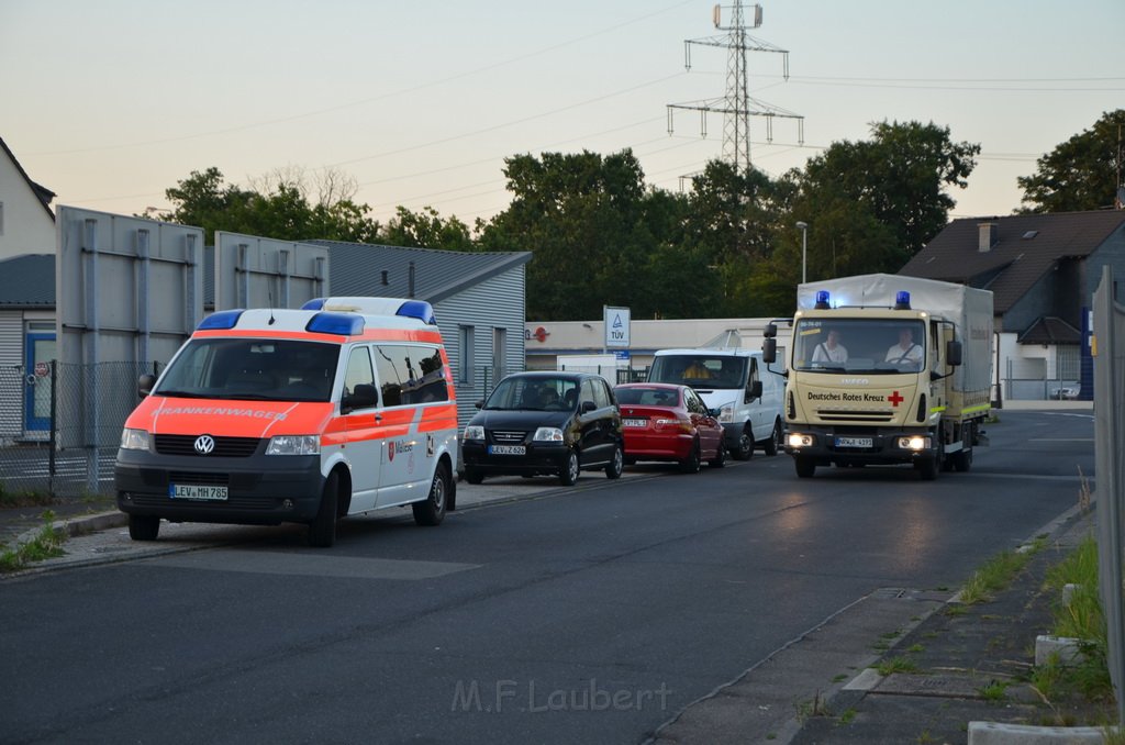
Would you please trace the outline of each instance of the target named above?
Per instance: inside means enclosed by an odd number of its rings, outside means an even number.
[[[849,199],[893,232],[904,262],[948,223],[956,203],[945,189],[968,186],[980,145],[953,143],[948,127],[933,123],[883,122],[871,133],[870,141],[832,143],[810,159],[796,177],[796,199],[810,225],[826,198]]]

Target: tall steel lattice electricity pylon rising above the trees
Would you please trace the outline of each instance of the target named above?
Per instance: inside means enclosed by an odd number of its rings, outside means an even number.
[[[754,16],[753,26],[749,28],[758,28],[762,26],[762,6],[754,5],[750,8]],[[789,80],[789,52],[768,42],[756,39],[746,33],[747,25],[742,14],[742,0],[735,0],[735,5],[729,6],[728,9],[730,11],[729,25],[722,25],[722,6],[714,7],[713,16],[714,27],[728,32],[726,35],[684,42],[684,66],[687,70],[692,69],[693,44],[718,46],[729,51],[727,56],[727,95],[723,98],[703,101],[668,104],[668,134],[673,133],[672,118],[675,109],[699,111],[700,134],[703,137],[706,137],[708,114],[722,114],[722,158],[735,167],[736,172],[749,173],[753,168],[750,162],[750,117],[765,117],[766,142],[773,142],[773,120],[775,117],[796,119],[798,142],[801,144],[804,144],[804,117],[750,97],[746,53],[774,52],[781,54],[785,80]]]

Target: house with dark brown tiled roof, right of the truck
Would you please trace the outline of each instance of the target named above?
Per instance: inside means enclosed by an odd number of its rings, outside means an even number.
[[[992,290],[1001,395],[1090,398],[1089,311],[1106,266],[1125,278],[1125,210],[956,219],[899,273]]]

